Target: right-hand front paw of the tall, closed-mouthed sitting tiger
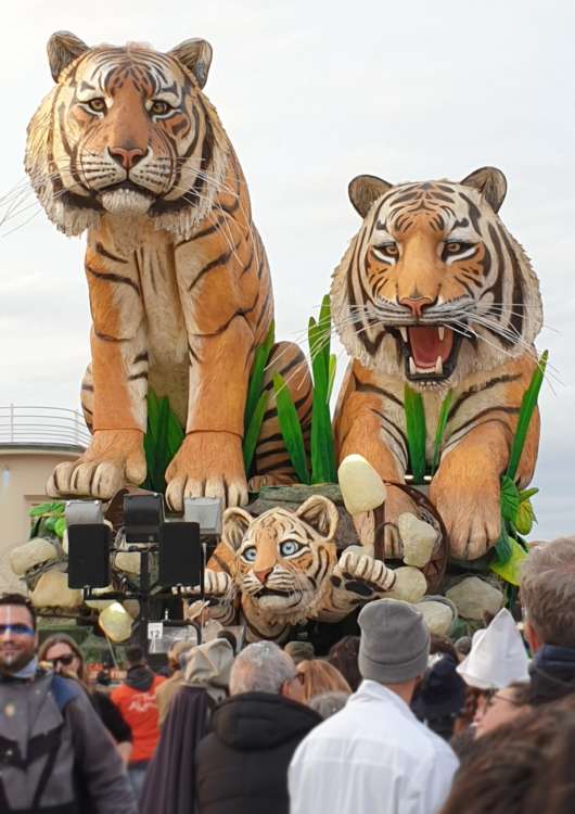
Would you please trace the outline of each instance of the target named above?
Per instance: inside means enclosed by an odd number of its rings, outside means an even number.
[[[184,497],[219,497],[225,506],[247,503],[242,440],[230,432],[189,433],[166,470],[166,500],[182,511]]]

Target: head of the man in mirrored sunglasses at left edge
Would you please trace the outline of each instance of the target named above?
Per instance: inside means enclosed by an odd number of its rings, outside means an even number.
[[[34,659],[38,646],[34,606],[22,594],[0,596],[0,673],[14,675]]]

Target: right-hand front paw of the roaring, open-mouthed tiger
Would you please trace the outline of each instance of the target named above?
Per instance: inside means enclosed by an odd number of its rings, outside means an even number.
[[[482,473],[481,483],[469,478],[432,481],[430,499],[447,530],[449,550],[461,560],[475,560],[487,554],[501,532],[499,478]]]

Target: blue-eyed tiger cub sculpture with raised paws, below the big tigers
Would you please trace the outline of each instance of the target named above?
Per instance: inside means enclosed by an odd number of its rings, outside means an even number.
[[[337,521],[334,504],[321,495],[296,511],[273,508],[257,518],[228,509],[205,572],[210,618],[243,622],[248,640],[282,641],[306,619],[337,622],[392,589],[401,598],[411,569],[394,572],[357,546],[337,557]]]

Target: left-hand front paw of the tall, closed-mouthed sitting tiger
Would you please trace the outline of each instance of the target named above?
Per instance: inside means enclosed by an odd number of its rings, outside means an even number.
[[[126,483],[142,483],[145,469],[140,430],[97,430],[84,455],[58,465],[46,491],[50,497],[108,499]]]

